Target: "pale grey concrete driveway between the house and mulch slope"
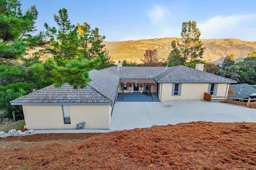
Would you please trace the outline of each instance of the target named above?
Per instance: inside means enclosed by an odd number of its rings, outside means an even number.
[[[112,113],[110,130],[192,121],[256,122],[256,109],[200,100],[117,102]]]

